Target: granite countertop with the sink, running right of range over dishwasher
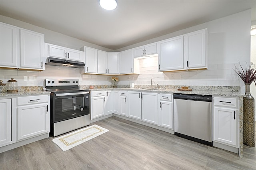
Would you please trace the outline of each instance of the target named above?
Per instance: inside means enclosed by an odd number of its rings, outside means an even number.
[[[141,89],[141,88],[97,88],[90,89],[90,91],[100,90],[126,90],[126,91],[144,91],[153,93],[182,93],[182,94],[195,94],[195,95],[212,95],[212,96],[228,96],[228,97],[246,97],[242,92],[234,91],[206,91],[206,90],[192,90],[192,91],[178,91],[177,89]]]

